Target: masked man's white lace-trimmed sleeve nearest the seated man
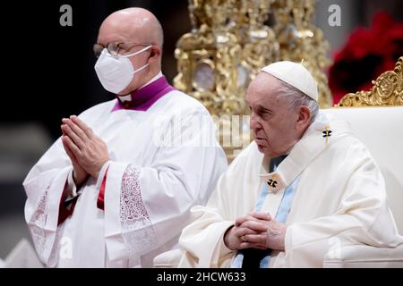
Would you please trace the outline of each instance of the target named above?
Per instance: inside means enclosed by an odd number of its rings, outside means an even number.
[[[164,245],[189,223],[190,208],[207,202],[227,158],[215,139],[213,122],[205,123],[199,130],[190,125],[181,130],[182,144],[163,144],[148,167],[110,162],[105,225],[111,260],[141,256]],[[201,137],[210,133],[214,144],[200,146]],[[166,142],[172,139],[168,137]]]

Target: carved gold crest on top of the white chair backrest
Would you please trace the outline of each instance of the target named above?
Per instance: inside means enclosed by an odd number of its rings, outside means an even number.
[[[383,72],[373,80],[370,91],[349,93],[336,106],[388,106],[403,105],[403,56],[399,57],[393,71]]]

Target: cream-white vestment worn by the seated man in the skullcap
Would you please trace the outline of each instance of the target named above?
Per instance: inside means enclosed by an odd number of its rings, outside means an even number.
[[[347,122],[318,114],[275,172],[267,172],[269,162],[254,142],[246,147],[220,177],[207,206],[191,210],[194,222],[179,239],[184,251],[162,254],[155,265],[229,267],[236,251],[225,246],[223,235],[253,210],[262,182],[277,182],[262,205],[275,217],[284,189],[298,176],[285,251],[271,252],[270,267],[322,267],[326,255],[348,245],[393,248],[403,242],[386,206],[382,174]]]

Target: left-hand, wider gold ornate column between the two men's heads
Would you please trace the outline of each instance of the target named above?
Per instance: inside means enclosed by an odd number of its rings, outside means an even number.
[[[244,114],[250,80],[276,61],[278,44],[266,25],[270,1],[189,0],[193,29],[176,44],[176,88],[211,114]]]

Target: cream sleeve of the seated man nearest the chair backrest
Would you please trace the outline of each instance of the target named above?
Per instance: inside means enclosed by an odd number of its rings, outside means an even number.
[[[350,177],[335,214],[287,227],[287,267],[322,267],[325,256],[350,244],[390,248],[403,242],[386,205],[382,174],[371,160],[364,160]]]

